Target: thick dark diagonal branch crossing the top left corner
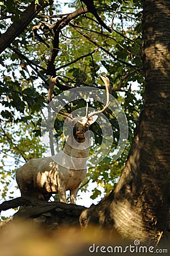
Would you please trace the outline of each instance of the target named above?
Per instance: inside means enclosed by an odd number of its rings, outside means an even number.
[[[43,4],[35,5],[34,2],[27,7],[21,15],[20,20],[11,24],[7,31],[0,37],[0,53],[2,53],[10,44],[19,36],[25,27],[43,10],[46,6],[50,5],[52,1]]]

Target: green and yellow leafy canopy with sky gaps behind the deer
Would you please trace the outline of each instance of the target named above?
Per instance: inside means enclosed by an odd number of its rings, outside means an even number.
[[[31,2],[0,2],[2,36],[12,23],[20,22]],[[36,4],[44,2],[48,5],[1,54],[1,195],[6,199],[16,168],[28,159],[44,155],[46,148],[40,141],[40,126],[42,109],[48,106],[49,76],[59,76],[54,91],[57,96],[70,87],[103,88],[98,77],[106,75],[112,84],[112,95],[128,118],[129,138],[119,159],[113,162],[111,151],[96,167],[89,168],[81,189],[86,191],[89,180],[96,181],[91,196],[95,199],[101,193],[97,188],[99,184],[108,193],[121,175],[141,111],[144,86],[142,1],[94,1],[97,14],[112,33],[101,26],[92,11],[85,10],[88,1],[35,1]],[[75,101],[74,109],[84,104]],[[102,108],[99,102],[91,102],[91,107]],[[66,111],[71,112],[70,104]],[[114,150],[120,135],[117,119],[109,110],[105,114],[112,124]],[[62,126],[61,117],[56,120],[54,131],[61,147]],[[91,130],[95,134],[92,155],[100,148],[102,134],[96,124]]]

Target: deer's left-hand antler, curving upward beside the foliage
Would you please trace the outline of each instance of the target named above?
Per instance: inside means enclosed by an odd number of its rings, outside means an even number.
[[[58,78],[58,76],[56,76],[54,78],[53,77],[50,78],[50,83],[49,83],[49,88],[48,88],[48,98],[49,98],[50,106],[52,107],[54,112],[57,112],[57,113],[62,114],[62,115],[66,115],[66,117],[69,117],[70,119],[73,119],[73,116],[70,115],[69,113],[62,112],[61,110],[58,111],[58,109],[54,105],[54,102],[52,101],[54,86],[56,84],[57,78]]]

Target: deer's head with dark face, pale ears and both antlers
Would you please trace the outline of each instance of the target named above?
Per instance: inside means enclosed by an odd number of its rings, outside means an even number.
[[[54,105],[54,102],[52,101],[54,85],[56,84],[57,77],[55,77],[55,78],[51,77],[51,79],[50,79],[50,84],[49,84],[49,89],[48,89],[48,98],[49,98],[50,106],[52,107],[54,112],[57,112],[59,114],[66,116],[66,117],[63,117],[63,119],[65,120],[65,122],[68,125],[73,127],[73,135],[77,142],[85,141],[85,137],[84,137],[85,133],[89,129],[89,126],[92,125],[92,123],[94,123],[96,121],[97,114],[103,113],[108,108],[108,106],[110,104],[109,91],[111,90],[111,86],[110,86],[109,79],[108,79],[108,77],[103,77],[103,76],[100,76],[100,77],[104,81],[105,88],[107,90],[107,102],[103,109],[98,110],[94,113],[90,113],[90,114],[88,113],[88,103],[87,103],[85,117],[74,117],[73,114],[65,113],[65,112],[62,112],[61,110],[59,110],[59,112],[58,112],[58,109],[56,108],[56,106]]]

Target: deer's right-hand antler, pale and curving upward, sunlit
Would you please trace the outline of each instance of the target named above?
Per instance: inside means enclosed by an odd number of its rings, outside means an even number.
[[[86,109],[86,117],[87,117],[87,118],[90,118],[90,117],[92,117],[93,115],[96,115],[96,114],[99,114],[99,113],[104,112],[104,111],[108,108],[109,104],[111,103],[111,102],[109,101],[109,98],[110,98],[110,97],[109,97],[109,92],[110,92],[110,90],[111,90],[110,81],[109,81],[108,77],[104,77],[104,76],[100,76],[100,77],[101,77],[101,79],[104,81],[105,88],[106,88],[106,91],[107,91],[107,102],[106,102],[106,104],[105,104],[105,106],[104,106],[103,109],[101,109],[101,110],[99,110],[99,111],[96,111],[96,112],[94,112],[94,113],[91,113],[91,114],[88,114],[88,105],[87,105],[87,109]]]

